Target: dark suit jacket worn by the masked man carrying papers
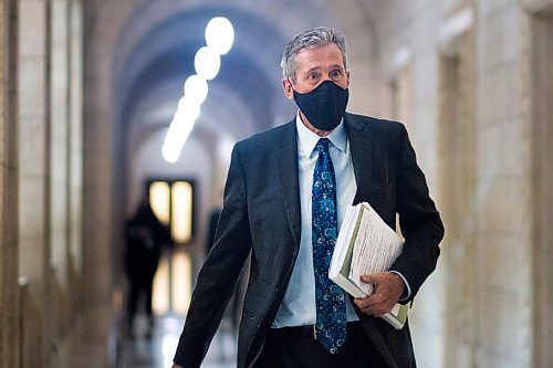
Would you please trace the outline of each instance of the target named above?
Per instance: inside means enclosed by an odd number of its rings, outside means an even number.
[[[393,270],[411,295],[436,267],[444,227],[401,124],[346,114],[345,128],[357,183],[355,202],[368,201],[406,239]],[[251,253],[238,341],[238,367],[249,367],[279,309],[300,246],[300,191],[295,119],[236,145],[216,243],[198,275],[175,356],[199,367]],[[415,367],[409,327],[358,313],[390,367]]]

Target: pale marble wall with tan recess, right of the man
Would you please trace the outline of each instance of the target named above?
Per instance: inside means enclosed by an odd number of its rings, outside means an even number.
[[[551,341],[543,333],[551,322],[543,319],[543,307],[539,313],[547,273],[534,269],[541,256],[551,259],[551,244],[543,240],[550,235],[542,231],[539,253],[535,238],[551,212],[534,214],[544,200],[551,207],[549,194],[534,192],[536,180],[551,183],[543,179],[551,178],[543,150],[551,128],[541,123],[545,143],[536,155],[536,119],[529,116],[534,99],[551,99],[551,88],[543,82],[536,87],[531,77],[532,63],[551,61],[550,51],[536,53],[551,50],[545,41],[551,28],[541,25],[534,51],[529,33],[532,24],[546,22],[551,4],[530,2],[389,1],[373,8],[380,14],[375,17],[380,76],[394,74],[398,50],[409,51],[406,123],[446,221],[438,270],[411,314],[422,367],[547,367],[551,361],[543,357],[547,353],[536,353],[544,336]],[[540,177],[532,171],[536,166]]]

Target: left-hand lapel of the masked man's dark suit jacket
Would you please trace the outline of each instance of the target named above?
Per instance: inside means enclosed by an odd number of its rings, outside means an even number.
[[[296,135],[295,119],[293,119],[284,126],[276,147],[276,159],[288,222],[298,249],[301,239],[301,209]]]

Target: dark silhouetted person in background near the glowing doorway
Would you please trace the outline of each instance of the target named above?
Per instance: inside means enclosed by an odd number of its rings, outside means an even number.
[[[127,332],[133,333],[133,324],[138,309],[138,302],[144,302],[148,318],[147,336],[154,324],[152,313],[152,291],[154,276],[164,245],[171,244],[168,229],[154,214],[147,199],[144,199],[136,214],[125,225],[125,271],[129,291],[127,301]]]

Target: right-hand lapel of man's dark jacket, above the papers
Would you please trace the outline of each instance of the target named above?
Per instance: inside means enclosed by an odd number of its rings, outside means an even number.
[[[359,122],[351,114],[344,116],[347,139],[352,149],[353,170],[357,192],[353,204],[366,201],[371,189],[371,162],[373,159],[373,137],[366,124]]]

